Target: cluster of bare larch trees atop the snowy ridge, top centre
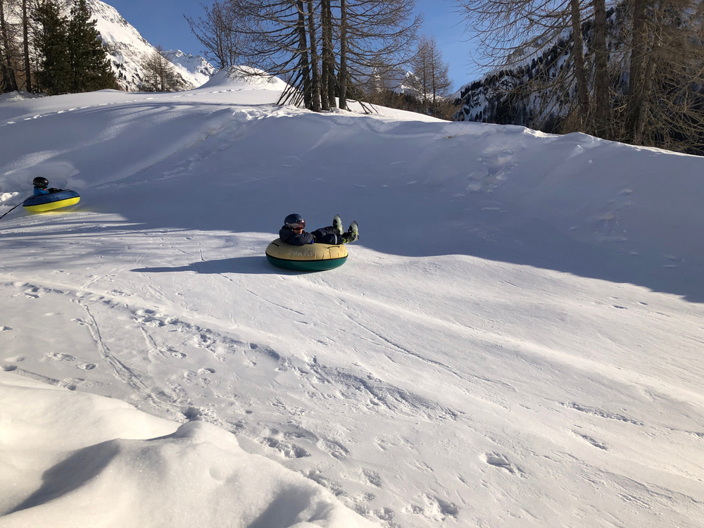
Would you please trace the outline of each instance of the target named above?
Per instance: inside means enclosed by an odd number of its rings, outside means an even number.
[[[414,0],[218,0],[188,18],[214,65],[246,64],[242,75],[276,75],[279,102],[313,111],[403,80],[422,18]]]

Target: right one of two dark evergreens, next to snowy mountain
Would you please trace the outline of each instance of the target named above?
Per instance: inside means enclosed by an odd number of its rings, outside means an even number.
[[[118,88],[100,32],[95,27],[96,21],[91,20],[91,16],[85,0],[74,1],[68,23],[73,93]]]

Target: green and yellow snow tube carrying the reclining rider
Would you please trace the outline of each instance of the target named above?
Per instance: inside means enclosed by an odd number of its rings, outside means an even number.
[[[347,260],[343,244],[306,244],[291,246],[276,239],[266,249],[267,260],[277,268],[294,271],[324,271],[343,265]]]

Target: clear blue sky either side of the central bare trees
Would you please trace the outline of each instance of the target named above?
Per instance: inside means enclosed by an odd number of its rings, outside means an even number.
[[[127,19],[142,37],[154,46],[180,49],[194,55],[201,53],[201,44],[191,33],[183,15],[197,18],[203,13],[201,4],[210,0],[103,0]],[[419,11],[425,14],[423,30],[434,34],[450,63],[450,77],[455,89],[475,80],[480,73],[470,64],[470,44],[465,42],[465,23],[456,12],[454,0],[416,0]]]

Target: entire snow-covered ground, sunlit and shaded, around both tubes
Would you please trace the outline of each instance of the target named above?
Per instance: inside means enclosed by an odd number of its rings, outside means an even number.
[[[704,159],[278,83],[0,103],[0,524],[702,526]]]

